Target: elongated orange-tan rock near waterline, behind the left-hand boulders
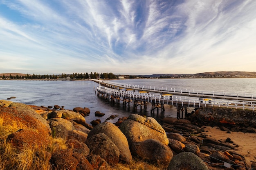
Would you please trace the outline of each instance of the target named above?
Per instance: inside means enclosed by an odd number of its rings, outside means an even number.
[[[59,110],[55,112],[60,112],[62,113],[62,118],[67,119],[67,120],[73,120],[76,123],[85,125],[85,118],[80,114],[76,113],[74,111],[69,111],[69,110]]]

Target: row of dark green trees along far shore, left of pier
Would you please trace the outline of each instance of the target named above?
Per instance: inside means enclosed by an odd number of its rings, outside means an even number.
[[[97,79],[97,78],[101,78],[101,79],[114,79],[117,78],[117,76],[113,73],[96,73],[94,72],[94,74],[91,72],[90,74],[88,74],[87,72],[84,74],[80,74],[80,73],[73,73],[73,74],[44,74],[44,75],[40,75],[40,74],[27,74],[27,75],[23,75],[23,76],[19,76],[18,74],[16,76],[13,75],[9,75],[9,76],[5,76],[3,74],[3,76],[0,76],[0,78],[3,79]]]

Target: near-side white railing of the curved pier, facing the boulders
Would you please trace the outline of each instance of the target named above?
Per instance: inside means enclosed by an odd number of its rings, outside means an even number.
[[[252,109],[256,107],[256,104],[242,100],[223,100],[223,99],[210,99],[210,98],[195,98],[186,96],[168,96],[155,93],[145,92],[133,92],[124,91],[119,89],[112,89],[104,86],[97,87],[99,92],[104,94],[110,94],[113,96],[120,96],[123,98],[130,98],[133,100],[141,100],[148,102],[158,102],[168,105],[186,105],[188,107],[231,107],[236,109]]]

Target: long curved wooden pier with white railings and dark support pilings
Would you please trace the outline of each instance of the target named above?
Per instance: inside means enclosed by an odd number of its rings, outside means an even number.
[[[99,83],[99,81],[96,82]],[[159,113],[159,110],[163,112],[165,110],[164,105],[174,105],[177,107],[177,118],[184,118],[188,114],[187,107],[199,108],[201,106],[210,106],[251,110],[254,110],[256,107],[256,100],[254,100],[255,97],[252,94],[252,97],[240,95],[239,97],[235,97],[235,99],[234,96],[232,96],[233,99],[231,100],[225,98],[225,94],[222,96],[218,95],[220,97],[216,97],[216,94],[212,94],[215,95],[212,98],[209,96],[206,98],[204,95],[201,97],[203,93],[196,96],[182,96],[180,93],[174,95],[166,93],[164,90],[159,90],[157,93],[151,92],[147,87],[141,89],[132,88],[135,87],[135,85],[126,87],[122,85],[120,87],[117,84],[108,84],[106,81],[100,81],[100,83],[101,86],[97,87],[98,97],[104,98],[112,102],[112,104],[119,104],[121,100],[123,101],[123,107],[126,107],[127,104],[128,107],[130,107],[130,103],[132,103],[134,111],[137,111],[138,107],[140,107],[140,111],[142,111],[146,109],[147,102],[150,102],[151,113],[155,113],[155,110],[157,113]],[[229,96],[229,98],[231,98],[231,96]],[[247,100],[242,100],[243,98]]]

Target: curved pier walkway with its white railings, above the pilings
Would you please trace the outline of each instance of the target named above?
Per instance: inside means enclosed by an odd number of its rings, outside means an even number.
[[[162,108],[164,104],[174,105],[177,108],[211,106],[254,110],[256,107],[256,94],[159,88],[96,79],[93,81],[99,83],[98,95],[105,96],[106,94],[111,98],[122,97],[125,104],[127,101],[130,103],[130,100],[140,101],[140,104],[144,103],[144,105],[146,102],[151,102],[152,110],[158,109],[159,105]]]

